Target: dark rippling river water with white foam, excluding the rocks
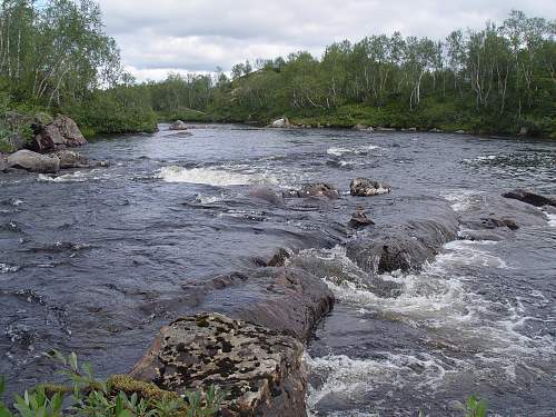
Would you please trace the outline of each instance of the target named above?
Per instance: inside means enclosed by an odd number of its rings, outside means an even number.
[[[420,274],[384,276],[401,288],[395,297],[357,285],[365,272],[337,245],[334,226],[356,205],[385,224],[426,217],[428,199],[471,216],[516,187],[556,193],[556,142],[161,129],[81,150],[109,159],[108,169],[0,175],[0,374],[10,386],[48,379],[52,365],[40,353],[52,347],[76,351],[102,376],[128,370],[187,310],[185,282],[287,247],[321,268],[339,300],[306,355],[312,415],[457,415],[453,401],[470,393],[503,416],[556,415],[554,215],[539,211],[542,222],[502,241],[447,244]],[[394,191],[353,198],[349,180],[359,176]],[[310,181],[344,196],[296,211],[248,198],[257,185]]]

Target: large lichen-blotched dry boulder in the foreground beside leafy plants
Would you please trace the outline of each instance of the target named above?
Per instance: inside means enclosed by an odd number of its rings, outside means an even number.
[[[222,416],[305,416],[302,349],[266,327],[201,314],[162,328],[130,376],[176,393],[216,386]]]

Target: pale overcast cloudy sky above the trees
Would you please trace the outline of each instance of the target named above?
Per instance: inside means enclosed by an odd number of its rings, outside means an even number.
[[[106,30],[138,80],[211,72],[370,34],[444,39],[512,9],[556,18],[555,0],[100,0]]]

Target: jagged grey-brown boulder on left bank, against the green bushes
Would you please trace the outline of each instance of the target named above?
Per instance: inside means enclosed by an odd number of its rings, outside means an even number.
[[[36,136],[31,149],[37,152],[51,152],[87,143],[76,122],[66,116],[57,116],[49,125],[42,125],[40,120],[36,119],[33,130]]]

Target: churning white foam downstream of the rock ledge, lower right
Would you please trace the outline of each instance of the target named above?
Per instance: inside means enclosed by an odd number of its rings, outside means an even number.
[[[535,318],[526,315],[518,299],[517,304],[489,300],[469,288],[468,282],[475,279],[467,275],[471,274],[469,268],[508,268],[503,259],[489,251],[495,245],[497,242],[493,241],[453,241],[434,261],[425,265],[420,274],[380,276],[383,280],[401,287],[397,297],[375,294],[373,282],[368,282],[367,275],[345,256],[345,249],[311,251],[310,256],[340,265],[337,276],[327,276],[325,282],[340,302],[358,311],[361,320],[371,312],[374,317],[426,328],[437,335],[435,338],[457,344],[457,350],[477,354],[461,357],[450,355],[449,350],[438,354],[383,351],[365,359],[345,355],[307,356],[306,364],[311,375],[324,380],[309,391],[309,411],[327,396],[338,396],[351,404],[378,386],[383,389],[409,386],[413,390],[428,391],[469,371],[495,378],[499,369],[504,369],[507,378],[513,380],[516,366],[522,369],[529,366],[524,358],[555,355],[553,336],[529,337],[519,331],[524,324]],[[543,369],[533,371],[546,374]]]

